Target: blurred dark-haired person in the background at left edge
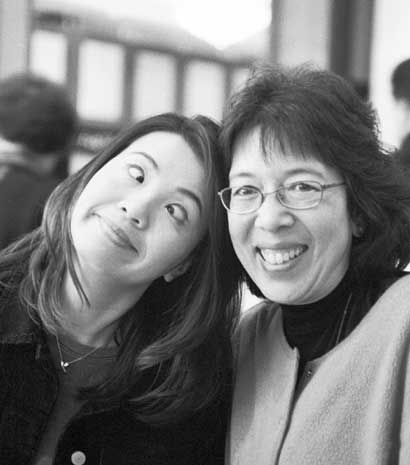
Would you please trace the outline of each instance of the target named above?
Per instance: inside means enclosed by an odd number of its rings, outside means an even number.
[[[0,249],[40,225],[68,174],[77,115],[65,89],[19,74],[0,81]]]

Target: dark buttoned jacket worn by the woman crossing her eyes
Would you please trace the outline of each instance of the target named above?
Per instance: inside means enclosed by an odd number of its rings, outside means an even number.
[[[0,464],[32,465],[58,399],[59,376],[42,326],[1,286],[0,379]],[[53,463],[223,465],[229,399],[226,386],[206,408],[157,426],[138,420],[126,399],[86,401],[59,435]]]

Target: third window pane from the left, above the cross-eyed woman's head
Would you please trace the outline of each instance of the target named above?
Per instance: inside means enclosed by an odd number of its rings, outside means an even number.
[[[164,53],[142,52],[136,58],[135,119],[175,110],[176,64]]]

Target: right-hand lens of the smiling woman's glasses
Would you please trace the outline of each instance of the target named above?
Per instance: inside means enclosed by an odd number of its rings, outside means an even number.
[[[290,208],[311,208],[319,204],[322,186],[315,181],[294,182],[284,186],[279,195],[281,201]]]

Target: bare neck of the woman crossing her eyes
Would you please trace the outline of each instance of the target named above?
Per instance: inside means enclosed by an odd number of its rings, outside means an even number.
[[[114,344],[114,334],[121,318],[144,294],[145,288],[124,286],[112,276],[95,276],[84,279],[78,273],[89,305],[83,302],[71,276],[67,273],[63,284],[63,332],[77,342],[94,346]]]

